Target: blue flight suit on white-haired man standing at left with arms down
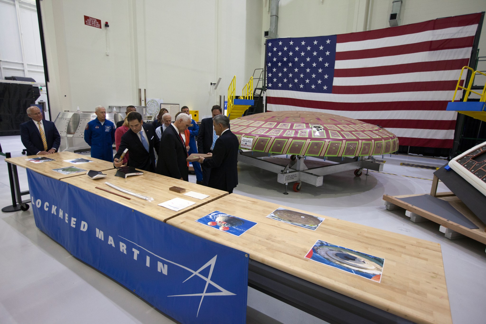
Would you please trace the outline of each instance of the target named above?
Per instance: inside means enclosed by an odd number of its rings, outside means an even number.
[[[103,125],[98,118],[86,124],[85,141],[91,146],[91,157],[113,162],[113,143],[115,142],[115,125],[104,119]]]

